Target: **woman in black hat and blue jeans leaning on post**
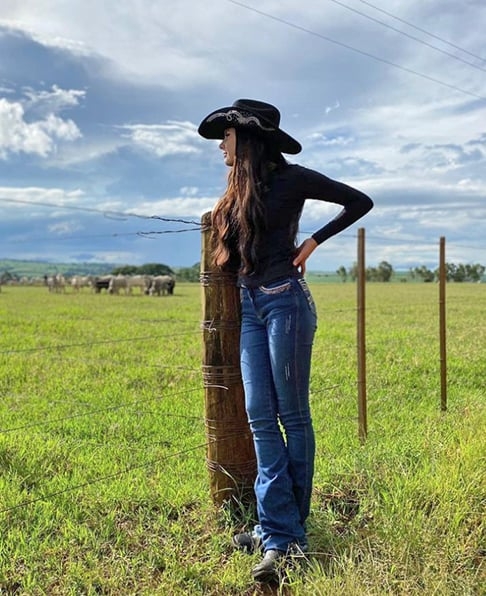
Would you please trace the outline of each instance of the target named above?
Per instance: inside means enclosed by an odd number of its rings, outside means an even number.
[[[280,129],[271,104],[239,99],[211,112],[198,132],[219,145],[231,168],[212,212],[212,256],[236,270],[241,288],[241,373],[257,458],[258,526],[234,544],[261,547],[258,581],[274,578],[293,552],[307,549],[315,440],[309,408],[316,310],[303,278],[319,244],[373,206],[362,192],[319,172],[291,165],[282,153],[301,145]],[[340,213],[296,246],[306,199],[342,206]]]

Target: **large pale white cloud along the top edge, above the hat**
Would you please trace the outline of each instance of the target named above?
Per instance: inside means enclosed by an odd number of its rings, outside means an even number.
[[[295,60],[302,48],[307,52],[317,47],[316,58],[321,54],[332,60],[343,48],[318,36],[342,41],[354,30],[349,14],[331,3],[309,2],[302,10],[292,0],[264,0],[255,9],[224,0],[23,0],[2,7],[0,24],[25,31],[42,45],[102,56],[117,74],[132,80],[178,90],[194,85],[224,88],[230,79],[232,85],[247,87],[252,71],[263,69],[272,77],[281,60],[288,80],[293,80],[303,72],[302,60]],[[360,37],[364,45],[366,28]],[[371,39],[379,43],[380,36]],[[329,104],[335,109],[339,100],[334,96]]]

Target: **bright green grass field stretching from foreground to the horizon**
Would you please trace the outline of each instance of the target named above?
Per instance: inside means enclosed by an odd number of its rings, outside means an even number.
[[[0,594],[486,593],[486,285],[367,287],[368,430],[357,432],[356,287],[319,313],[312,554],[278,588],[217,510],[205,464],[201,288],[0,294]]]

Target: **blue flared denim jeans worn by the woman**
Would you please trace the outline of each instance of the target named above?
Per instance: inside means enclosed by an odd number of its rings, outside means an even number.
[[[309,407],[314,301],[302,278],[241,288],[241,373],[257,459],[264,550],[307,545],[315,439]]]

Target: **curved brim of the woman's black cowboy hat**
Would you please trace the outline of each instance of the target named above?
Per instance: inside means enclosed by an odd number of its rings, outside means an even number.
[[[240,125],[227,117],[227,115],[234,110],[234,106],[214,110],[203,119],[197,132],[205,139],[222,139],[224,131],[227,128],[249,130],[248,126]],[[259,117],[259,120],[262,120],[261,117]],[[295,155],[302,151],[302,145],[281,128],[263,130],[258,127],[251,127],[250,130],[260,136],[270,139],[282,153]]]

